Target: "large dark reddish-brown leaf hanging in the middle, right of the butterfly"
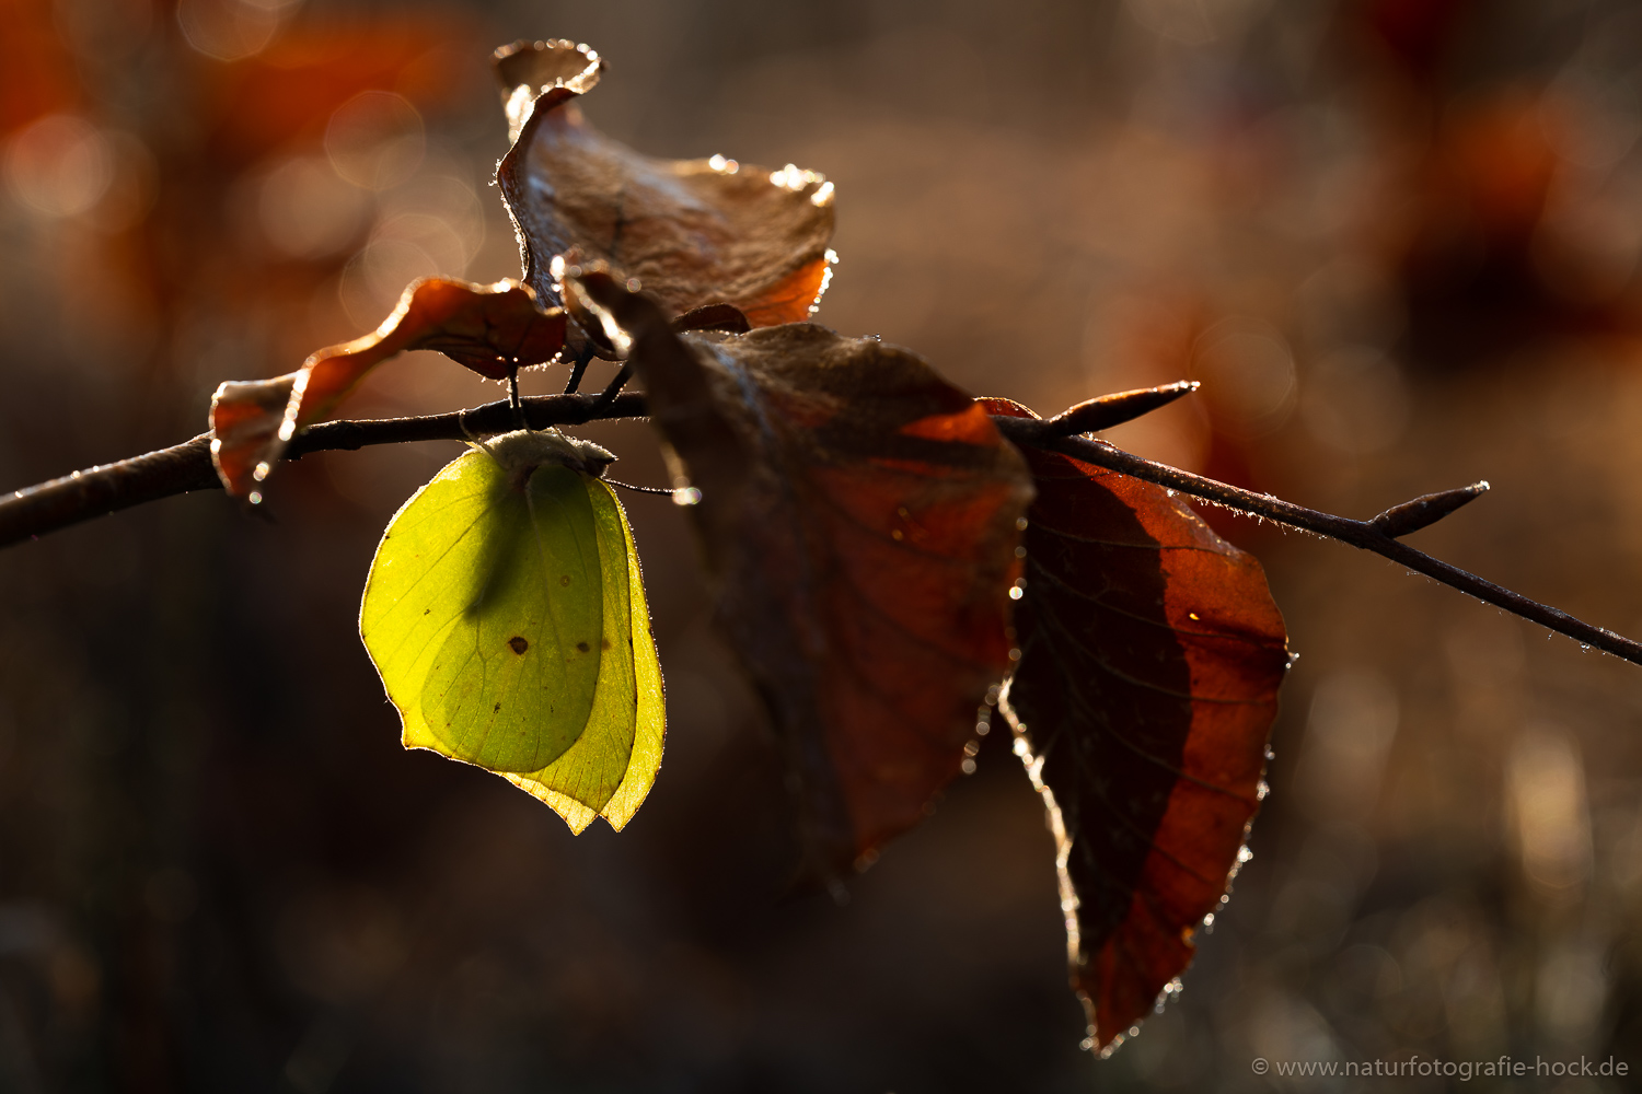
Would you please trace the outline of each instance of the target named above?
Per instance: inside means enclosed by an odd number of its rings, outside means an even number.
[[[905,349],[810,323],[680,336],[608,276],[576,285],[632,338],[808,866],[836,879],[918,823],[1010,666],[1026,466]]]

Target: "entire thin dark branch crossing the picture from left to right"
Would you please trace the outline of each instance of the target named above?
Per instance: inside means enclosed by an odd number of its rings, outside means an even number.
[[[1161,390],[1161,389],[1159,389]],[[1128,395],[1128,394],[1125,394]],[[524,400],[525,420],[532,428],[550,425],[581,425],[594,420],[642,418],[644,395],[622,392],[603,395],[540,395]],[[1558,635],[1566,635],[1583,645],[1596,646],[1616,658],[1642,664],[1642,643],[1611,630],[1593,627],[1566,612],[1530,600],[1476,574],[1450,566],[1442,559],[1399,543],[1381,528],[1406,535],[1414,526],[1425,526],[1458,508],[1486,489],[1486,484],[1448,490],[1425,499],[1414,499],[1386,510],[1374,522],[1351,520],[1322,513],[1304,505],[1294,505],[1269,494],[1241,490],[1215,479],[1159,464],[1143,456],[1113,448],[1080,435],[1066,435],[1067,423],[1080,417],[1034,420],[995,417],[993,423],[1016,444],[1030,444],[1082,459],[1108,471],[1118,471],[1146,482],[1190,494],[1192,497],[1225,505],[1241,513],[1300,528],[1330,540],[1348,543],[1401,563],[1445,586],[1466,592],[1486,604],[1520,615]],[[406,441],[460,441],[483,433],[502,433],[514,426],[514,408],[507,400],[458,410],[455,413],[420,418],[381,418],[374,422],[325,422],[310,425],[292,438],[286,459],[300,459],[305,453],[327,449],[353,449],[366,444],[399,444]],[[62,479],[53,479],[10,497],[0,499],[0,548],[31,540],[80,523],[103,513],[154,502],[172,494],[220,489],[217,471],[210,463],[210,435],[202,433],[190,441],[163,448],[131,459],[76,471]],[[1465,495],[1463,499],[1460,495]],[[1438,512],[1440,510],[1440,512]],[[1406,515],[1404,515],[1406,513]],[[1412,526],[1410,526],[1412,525]]]

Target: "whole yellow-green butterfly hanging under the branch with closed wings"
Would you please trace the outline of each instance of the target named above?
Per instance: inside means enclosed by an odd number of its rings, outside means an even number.
[[[573,830],[621,828],[660,766],[660,666],[609,454],[506,433],[450,463],[394,517],[360,635],[404,745],[478,764]]]

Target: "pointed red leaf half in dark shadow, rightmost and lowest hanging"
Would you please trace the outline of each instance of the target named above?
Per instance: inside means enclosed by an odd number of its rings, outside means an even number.
[[[1167,490],[1025,454],[1038,497],[1003,710],[1059,845],[1090,1046],[1110,1051],[1177,987],[1245,858],[1287,636],[1259,563]]]

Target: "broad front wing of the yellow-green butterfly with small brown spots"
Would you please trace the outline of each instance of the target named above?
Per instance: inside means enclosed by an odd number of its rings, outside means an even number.
[[[394,517],[360,633],[407,748],[491,771],[540,771],[581,736],[603,663],[598,531],[581,472],[514,489],[466,453]]]

